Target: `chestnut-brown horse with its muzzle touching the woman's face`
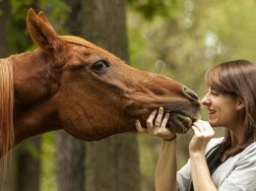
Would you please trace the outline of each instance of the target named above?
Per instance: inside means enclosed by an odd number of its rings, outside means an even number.
[[[135,132],[153,109],[175,113],[171,131],[186,133],[199,117],[198,97],[185,86],[134,69],[75,36],[59,36],[32,9],[28,30],[38,46],[0,60],[0,156],[23,140],[65,129],[86,141]]]

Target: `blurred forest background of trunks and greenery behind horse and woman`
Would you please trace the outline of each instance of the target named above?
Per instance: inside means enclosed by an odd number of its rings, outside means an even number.
[[[35,48],[26,28],[31,7],[42,10],[59,34],[83,36],[200,97],[211,66],[256,61],[255,0],[0,0],[1,58]],[[178,167],[188,159],[192,136],[178,135]],[[86,143],[64,131],[46,133],[12,151],[7,173],[0,165],[0,190],[154,191],[159,154],[160,139],[148,135]]]

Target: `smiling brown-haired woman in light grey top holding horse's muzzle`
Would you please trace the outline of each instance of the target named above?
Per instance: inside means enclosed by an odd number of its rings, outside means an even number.
[[[190,159],[177,173],[176,135],[165,128],[169,114],[163,117],[162,108],[154,110],[147,128],[136,121],[138,132],[162,138],[157,191],[255,191],[256,65],[246,60],[225,62],[211,68],[205,80],[208,93],[202,104],[208,121],[193,123]],[[213,138],[212,127],[224,127],[224,138]]]

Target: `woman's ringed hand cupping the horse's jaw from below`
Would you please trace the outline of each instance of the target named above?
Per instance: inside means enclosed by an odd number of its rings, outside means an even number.
[[[156,118],[157,117],[157,118]],[[152,136],[160,137],[163,140],[170,140],[176,135],[169,131],[165,126],[169,119],[169,113],[166,113],[163,117],[163,108],[160,107],[159,111],[155,109],[149,118],[147,119],[147,128],[141,126],[139,120],[136,120],[135,126],[139,133],[147,133]],[[154,119],[156,118],[155,124]]]

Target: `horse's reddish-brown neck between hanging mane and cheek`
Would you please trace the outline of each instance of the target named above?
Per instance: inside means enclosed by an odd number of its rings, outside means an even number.
[[[61,129],[53,96],[56,85],[46,79],[47,63],[40,51],[9,57],[14,72],[14,145],[32,136]]]

